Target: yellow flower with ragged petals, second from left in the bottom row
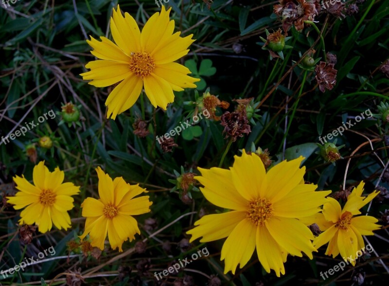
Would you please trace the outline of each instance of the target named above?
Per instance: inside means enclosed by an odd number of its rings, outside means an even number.
[[[135,234],[141,234],[137,221],[133,215],[141,215],[150,212],[149,196],[135,198],[145,189],[138,185],[130,185],[124,182],[122,177],[113,181],[108,174],[98,167],[99,200],[87,198],[81,204],[82,216],[86,217],[85,231],[80,236],[84,239],[89,234],[92,246],[104,250],[104,241],[108,233],[108,240],[112,249],[119,247],[122,252],[122,244],[127,238],[132,241]]]

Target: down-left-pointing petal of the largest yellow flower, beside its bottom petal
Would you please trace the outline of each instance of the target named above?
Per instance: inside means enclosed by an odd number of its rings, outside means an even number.
[[[232,230],[223,244],[220,260],[225,259],[224,274],[232,271],[240,264],[242,269],[250,260],[256,244],[257,227],[248,219],[244,219]]]

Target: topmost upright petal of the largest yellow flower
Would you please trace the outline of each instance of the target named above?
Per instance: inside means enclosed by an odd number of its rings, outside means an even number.
[[[256,154],[234,156],[234,164],[231,170],[232,182],[237,191],[248,201],[263,197],[267,181],[264,163]]]

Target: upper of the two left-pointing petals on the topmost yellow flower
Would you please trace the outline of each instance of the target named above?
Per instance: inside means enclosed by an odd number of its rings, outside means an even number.
[[[111,40],[106,37],[100,37],[100,39],[102,40],[101,42],[90,36],[90,41],[87,40],[89,46],[94,49],[90,51],[91,54],[101,60],[114,61],[123,64],[128,64],[130,62],[130,57]]]

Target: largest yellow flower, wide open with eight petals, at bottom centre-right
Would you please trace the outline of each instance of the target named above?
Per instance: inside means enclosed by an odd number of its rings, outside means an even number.
[[[312,259],[317,251],[311,242],[314,236],[297,218],[319,212],[331,191],[316,192],[317,185],[301,184],[302,160],[283,161],[266,173],[261,158],[243,150],[230,170],[198,168],[201,176],[195,179],[204,185],[200,189],[205,198],[233,211],[196,221],[197,227],[187,232],[191,241],[200,236],[201,242],[227,237],[221,252],[225,273],[235,273],[238,264],[243,268],[255,248],[266,272],[274,269],[277,276],[285,273],[288,253],[301,257],[305,252]]]

